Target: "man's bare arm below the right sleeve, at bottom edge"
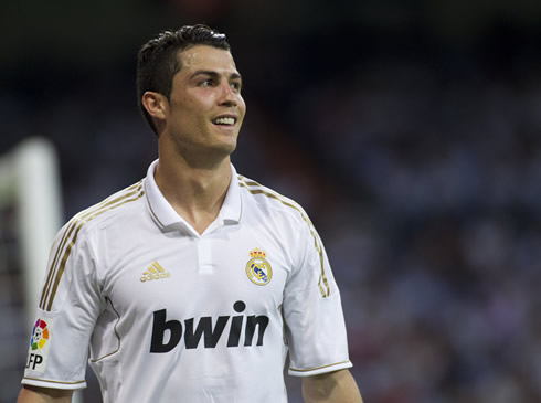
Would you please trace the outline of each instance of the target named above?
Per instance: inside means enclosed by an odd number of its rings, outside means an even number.
[[[303,378],[303,396],[306,403],[362,403],[349,370]]]

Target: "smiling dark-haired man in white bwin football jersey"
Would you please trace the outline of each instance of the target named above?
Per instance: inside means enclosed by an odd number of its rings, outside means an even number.
[[[362,402],[316,230],[231,165],[246,107],[225,35],[162,33],[137,86],[159,159],[56,236],[19,402],[70,402],[87,359],[106,403],[287,402],[287,352],[306,402]]]

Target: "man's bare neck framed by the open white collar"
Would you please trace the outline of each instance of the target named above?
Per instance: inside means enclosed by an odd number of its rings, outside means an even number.
[[[230,158],[203,165],[160,153],[156,183],[167,201],[199,234],[216,219],[231,181]]]

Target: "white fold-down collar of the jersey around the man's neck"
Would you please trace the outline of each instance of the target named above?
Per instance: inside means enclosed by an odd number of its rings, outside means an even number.
[[[147,204],[152,220],[162,231],[178,231],[180,226],[190,227],[191,225],[180,216],[174,209],[169,204],[167,199],[161,193],[155,180],[155,171],[158,160],[153,161],[147,171],[145,178],[145,193],[147,195]],[[218,214],[216,220],[211,227],[216,225],[237,224],[242,215],[241,189],[238,185],[235,167],[231,165],[231,182],[225,194],[225,199]]]

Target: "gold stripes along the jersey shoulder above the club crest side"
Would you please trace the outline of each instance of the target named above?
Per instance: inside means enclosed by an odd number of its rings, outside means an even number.
[[[310,234],[314,238],[314,246],[316,247],[316,251],[319,254],[319,263],[321,266],[321,273],[319,275],[319,282],[318,282],[319,293],[321,293],[321,296],[323,298],[329,297],[330,296],[330,287],[329,287],[329,282],[327,280],[327,275],[325,273],[323,248],[319,242],[319,237],[316,233],[316,229],[315,229],[314,224],[311,223],[310,219],[305,213],[303,208],[299,204],[297,204],[296,202],[294,202],[293,200],[290,200],[286,197],[283,197],[282,194],[279,194],[275,191],[272,191],[270,189],[265,188],[262,184],[259,184],[253,180],[248,180],[247,178],[243,177],[242,174],[237,174],[237,178],[238,178],[238,184],[242,188],[246,188],[246,190],[250,193],[263,194],[263,195],[266,195],[267,198],[279,201],[282,204],[296,210],[300,214],[301,219],[308,224],[308,227],[310,229]]]

